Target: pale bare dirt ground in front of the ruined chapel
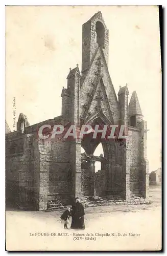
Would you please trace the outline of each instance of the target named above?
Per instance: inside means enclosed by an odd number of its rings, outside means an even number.
[[[150,201],[86,208],[85,230],[64,230],[62,211],[6,210],[7,250],[160,250],[161,187]]]

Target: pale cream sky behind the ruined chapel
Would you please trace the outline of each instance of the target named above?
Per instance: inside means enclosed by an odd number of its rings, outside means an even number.
[[[128,83],[148,123],[150,172],[161,166],[161,58],[156,6],[7,6],[6,120],[30,124],[61,115],[69,68],[82,61],[82,24],[101,11],[109,29],[109,73],[116,92]],[[16,109],[13,107],[15,98]],[[101,149],[99,149],[98,153]],[[98,154],[100,155],[100,154]]]

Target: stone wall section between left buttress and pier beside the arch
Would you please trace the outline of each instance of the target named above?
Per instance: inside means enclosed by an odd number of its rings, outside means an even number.
[[[51,142],[47,163],[48,163],[48,191],[47,199],[55,197],[67,202],[71,195],[72,173],[70,166],[70,142]]]

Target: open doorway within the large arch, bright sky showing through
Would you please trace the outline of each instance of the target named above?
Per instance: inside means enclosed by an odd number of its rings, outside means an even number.
[[[103,143],[103,144],[102,144]],[[90,134],[82,141],[81,150],[81,194],[82,196],[97,196],[105,194],[107,169],[107,154],[104,150],[107,144],[100,139],[92,139]]]

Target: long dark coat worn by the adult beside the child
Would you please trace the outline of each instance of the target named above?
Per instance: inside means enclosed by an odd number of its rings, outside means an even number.
[[[74,229],[85,229],[84,223],[84,207],[80,202],[77,202],[75,205],[72,206],[72,222],[71,228]]]

